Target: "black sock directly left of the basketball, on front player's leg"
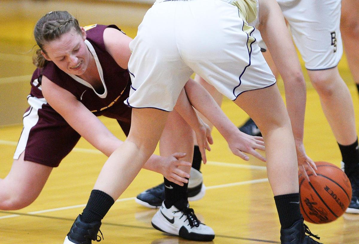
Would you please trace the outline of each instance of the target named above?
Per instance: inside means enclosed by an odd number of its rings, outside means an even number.
[[[274,201],[282,229],[288,229],[302,216],[299,209],[299,193],[274,196]]]

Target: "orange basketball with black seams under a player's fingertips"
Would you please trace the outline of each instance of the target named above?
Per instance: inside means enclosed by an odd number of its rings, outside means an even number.
[[[307,171],[310,182],[299,174],[300,211],[304,220],[324,224],[339,218],[351,200],[351,185],[336,165],[315,162],[317,177]]]

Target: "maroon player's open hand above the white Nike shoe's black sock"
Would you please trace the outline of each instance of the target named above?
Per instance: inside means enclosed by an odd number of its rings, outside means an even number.
[[[186,154],[183,152],[176,152],[169,157],[163,158],[161,161],[162,166],[160,173],[169,181],[180,186],[183,186],[183,183],[188,183],[188,179],[186,178],[190,178],[190,174],[178,168],[178,166],[192,166],[192,163],[180,160],[185,156]]]

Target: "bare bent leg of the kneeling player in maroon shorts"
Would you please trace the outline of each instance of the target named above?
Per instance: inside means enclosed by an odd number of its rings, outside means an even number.
[[[39,196],[52,167],[24,161],[24,153],[14,160],[9,174],[0,179],[0,209],[17,210],[30,205]]]

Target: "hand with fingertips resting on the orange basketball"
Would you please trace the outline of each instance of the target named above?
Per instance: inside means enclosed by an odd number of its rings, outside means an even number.
[[[313,160],[307,156],[303,141],[295,141],[295,148],[297,150],[299,172],[302,173],[308,181],[310,181],[307,170],[309,173],[313,173],[313,175],[317,176],[317,173],[315,172],[315,170],[317,170],[317,166]]]

